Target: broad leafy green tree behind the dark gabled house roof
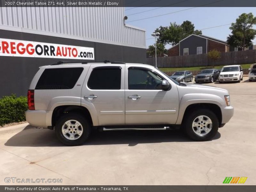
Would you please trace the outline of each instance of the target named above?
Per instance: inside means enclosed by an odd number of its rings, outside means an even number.
[[[171,44],[172,46],[178,44],[180,40],[191,34],[202,34],[202,31],[195,30],[194,24],[188,20],[183,21],[181,25],[178,25],[176,22],[171,22],[168,27],[160,26],[156,28],[155,33],[156,32],[160,33],[157,43],[164,45]]]

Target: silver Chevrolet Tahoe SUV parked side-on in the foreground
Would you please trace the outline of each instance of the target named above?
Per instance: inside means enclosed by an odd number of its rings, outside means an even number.
[[[145,64],[63,63],[40,67],[28,90],[26,119],[55,129],[66,145],[80,145],[92,128],[181,128],[191,139],[212,139],[233,116],[229,93],[178,83]]]

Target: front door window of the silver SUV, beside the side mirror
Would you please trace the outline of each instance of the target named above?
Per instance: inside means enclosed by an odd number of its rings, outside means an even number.
[[[128,89],[161,89],[163,78],[153,71],[129,68]]]

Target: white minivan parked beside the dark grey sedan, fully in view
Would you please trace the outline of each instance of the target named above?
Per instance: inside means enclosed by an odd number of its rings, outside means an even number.
[[[220,83],[228,81],[236,81],[240,83],[241,80],[243,80],[243,69],[241,65],[224,66],[220,71]]]

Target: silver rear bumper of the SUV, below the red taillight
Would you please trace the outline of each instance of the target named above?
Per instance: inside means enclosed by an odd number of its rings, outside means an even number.
[[[27,110],[25,112],[27,122],[35,127],[52,126],[52,111],[50,110]]]

